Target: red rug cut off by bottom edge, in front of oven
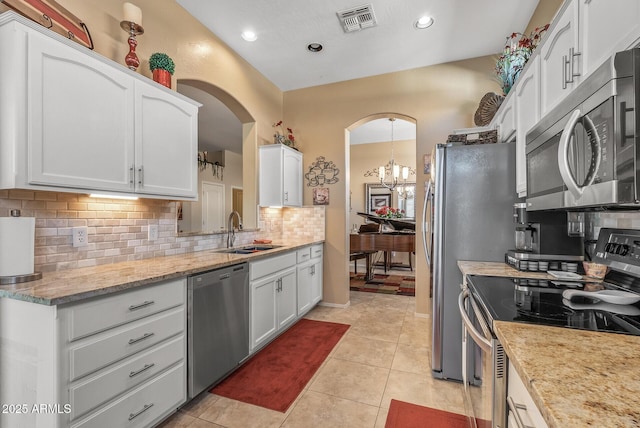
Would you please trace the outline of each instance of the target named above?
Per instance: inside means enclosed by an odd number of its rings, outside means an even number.
[[[488,421],[476,419],[478,427],[491,427]],[[469,418],[457,413],[391,400],[384,428],[469,428]]]

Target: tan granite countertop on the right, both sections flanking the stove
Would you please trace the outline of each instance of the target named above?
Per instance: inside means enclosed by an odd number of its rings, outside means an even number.
[[[459,261],[464,275],[552,278]],[[550,428],[640,426],[640,337],[496,321],[496,336]]]

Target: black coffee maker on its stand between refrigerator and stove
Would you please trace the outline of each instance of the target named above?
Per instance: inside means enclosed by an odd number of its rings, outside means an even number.
[[[580,213],[527,211],[526,203],[517,203],[513,220],[515,249],[505,256],[509,265],[526,271],[577,271],[584,259]]]

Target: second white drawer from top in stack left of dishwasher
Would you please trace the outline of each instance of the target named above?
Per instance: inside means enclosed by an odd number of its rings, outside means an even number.
[[[69,349],[70,380],[184,333],[185,318],[184,307],[180,307],[79,342]]]

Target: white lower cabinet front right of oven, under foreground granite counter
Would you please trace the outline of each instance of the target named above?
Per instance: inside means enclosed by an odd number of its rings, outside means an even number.
[[[507,386],[508,428],[547,428],[542,413],[533,402],[527,387],[509,362]]]

